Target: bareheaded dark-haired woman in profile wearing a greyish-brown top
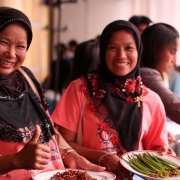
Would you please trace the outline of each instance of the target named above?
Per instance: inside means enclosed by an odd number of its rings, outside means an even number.
[[[161,98],[167,117],[180,124],[180,98],[168,88],[168,74],[176,62],[179,33],[164,23],[148,27],[142,34],[143,54],[140,74],[145,86]]]

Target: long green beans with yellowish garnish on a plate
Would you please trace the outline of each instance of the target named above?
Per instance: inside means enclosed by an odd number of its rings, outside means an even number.
[[[180,176],[180,167],[168,160],[162,159],[151,153],[142,153],[128,155],[125,160],[133,169],[139,173],[155,177],[168,178],[172,176]]]

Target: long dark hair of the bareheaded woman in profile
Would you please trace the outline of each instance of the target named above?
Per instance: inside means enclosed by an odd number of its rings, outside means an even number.
[[[141,66],[154,68],[158,64],[162,49],[179,38],[178,31],[165,23],[156,23],[142,33],[143,53]]]

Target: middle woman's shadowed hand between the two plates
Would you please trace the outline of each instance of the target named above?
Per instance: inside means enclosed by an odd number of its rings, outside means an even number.
[[[121,164],[119,160],[119,156],[115,154],[108,154],[101,158],[100,164],[106,167],[106,170],[116,174],[120,180],[132,180],[132,176],[128,170],[126,170]]]

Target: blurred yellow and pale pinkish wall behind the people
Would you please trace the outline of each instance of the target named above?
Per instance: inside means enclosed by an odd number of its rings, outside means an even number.
[[[103,28],[117,19],[133,15],[148,16],[153,22],[165,22],[180,31],[180,0],[0,0],[0,6],[23,11],[31,20],[33,41],[24,63],[39,82],[49,72],[57,43],[78,43],[97,37]],[[57,5],[54,5],[56,4]],[[58,4],[61,2],[61,5]],[[177,64],[180,64],[178,58]]]

